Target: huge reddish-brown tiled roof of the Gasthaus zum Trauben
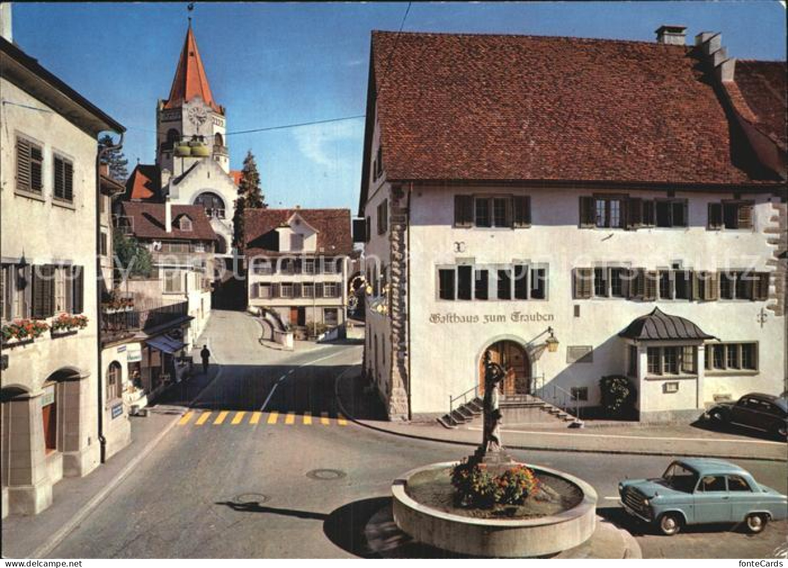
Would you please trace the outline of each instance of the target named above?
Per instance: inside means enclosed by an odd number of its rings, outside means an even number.
[[[373,32],[387,179],[756,183],[701,67],[662,43]],[[742,89],[784,124],[773,72]]]

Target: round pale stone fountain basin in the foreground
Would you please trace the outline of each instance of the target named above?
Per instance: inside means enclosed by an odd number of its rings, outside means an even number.
[[[414,540],[457,554],[499,558],[548,556],[574,548],[596,529],[597,492],[568,473],[525,464],[574,484],[580,502],[558,514],[539,518],[474,518],[447,513],[418,503],[407,493],[417,473],[451,468],[456,462],[431,463],[404,473],[392,484],[394,522]]]

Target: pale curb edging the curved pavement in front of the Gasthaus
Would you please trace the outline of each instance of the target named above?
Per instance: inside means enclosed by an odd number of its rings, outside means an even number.
[[[352,369],[352,367],[351,367]],[[418,436],[418,434],[408,434],[406,432],[396,432],[393,430],[388,430],[385,428],[381,428],[380,426],[374,426],[368,424],[364,421],[360,421],[358,418],[351,416],[348,413],[347,409],[344,407],[344,403],[342,403],[342,398],[339,394],[339,381],[344,375],[347,373],[348,370],[344,370],[340,375],[336,377],[334,380],[334,396],[336,397],[336,401],[339,404],[340,410],[342,413],[356,425],[362,426],[363,428],[374,430],[375,432],[382,432],[385,434],[389,434],[391,436],[400,436],[402,438],[409,438],[411,440],[424,440],[427,442],[439,442],[441,444],[454,444],[456,446],[466,446],[466,447],[476,447],[478,444],[473,442],[463,442],[461,440],[445,440],[443,438],[433,438],[430,436]],[[734,455],[734,454],[716,454],[716,455],[703,455],[698,456],[697,454],[682,452],[682,451],[662,451],[662,450],[621,450],[618,448],[609,448],[605,450],[594,449],[594,448],[578,448],[578,447],[556,447],[556,446],[545,446],[545,445],[507,445],[507,447],[511,450],[526,450],[526,451],[565,451],[565,452],[572,452],[577,454],[617,454],[617,455],[664,455],[664,456],[671,456],[671,457],[680,457],[680,458],[695,458],[695,457],[704,457],[704,458],[721,458],[721,459],[746,459],[746,460],[753,460],[759,462],[788,462],[788,458],[771,458],[771,457],[759,457],[753,455]]]

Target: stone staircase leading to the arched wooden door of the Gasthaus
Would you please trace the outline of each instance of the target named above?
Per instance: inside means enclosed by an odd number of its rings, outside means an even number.
[[[457,428],[480,418],[482,409],[482,400],[476,397],[444,414],[438,418],[438,422],[445,428]],[[519,420],[540,426],[582,428],[583,425],[582,420],[571,413],[533,395],[504,395],[500,401],[500,409],[504,414],[504,425],[515,425]]]

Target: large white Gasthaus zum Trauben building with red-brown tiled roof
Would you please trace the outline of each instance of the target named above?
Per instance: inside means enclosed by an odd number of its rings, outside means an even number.
[[[391,418],[478,393],[488,349],[505,395],[591,412],[619,375],[643,421],[785,389],[786,64],[685,31],[373,33],[364,369]]]

